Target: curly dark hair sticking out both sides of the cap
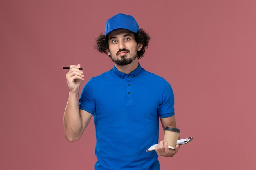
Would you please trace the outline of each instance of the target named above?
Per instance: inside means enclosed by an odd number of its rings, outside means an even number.
[[[142,49],[138,51],[138,54],[137,54],[138,59],[140,59],[145,54],[145,49],[148,48],[148,43],[150,42],[150,36],[148,36],[148,34],[143,29],[139,29],[137,33],[134,33],[134,36],[137,44],[139,43],[143,44]],[[101,33],[99,37],[96,38],[96,44],[94,45],[94,49],[96,49],[101,53],[107,54],[106,49],[108,49],[108,35],[105,36],[103,33]]]

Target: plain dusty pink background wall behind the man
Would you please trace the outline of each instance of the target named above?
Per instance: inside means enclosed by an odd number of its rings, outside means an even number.
[[[110,70],[93,45],[117,13],[152,37],[141,66],[171,84],[181,137],[195,138],[159,157],[162,170],[256,169],[255,0],[1,0],[0,11],[0,170],[94,169],[93,119],[64,137],[62,67],[81,64],[82,86]]]

